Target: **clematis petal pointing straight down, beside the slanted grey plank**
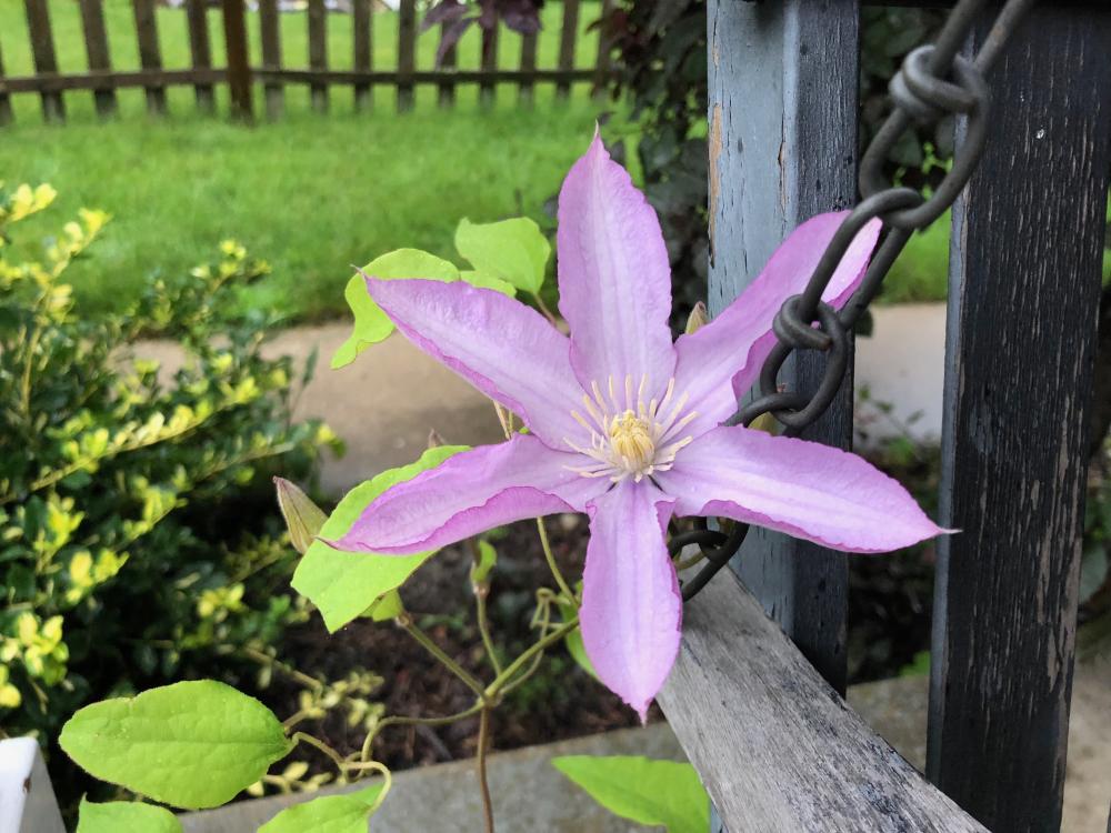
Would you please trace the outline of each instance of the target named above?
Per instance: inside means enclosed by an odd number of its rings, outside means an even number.
[[[673,501],[651,481],[595,498],[582,576],[582,642],[599,679],[640,714],[679,651],[682,599],[663,530]]]

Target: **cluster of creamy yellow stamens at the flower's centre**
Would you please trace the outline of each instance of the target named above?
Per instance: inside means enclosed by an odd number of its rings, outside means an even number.
[[[674,379],[668,380],[668,390],[659,400],[644,401],[647,387],[647,374],[635,388],[632,377],[625,377],[621,391],[610,377],[607,398],[597,381],[590,383],[593,397],[582,397],[585,415],[571,411],[579,424],[590,432],[590,448],[577,445],[565,438],[563,441],[595,462],[571,466],[572,471],[584,478],[608,476],[614,483],[632,476],[639,483],[653,472],[668,471],[672,466],[679,450],[693,440],[680,438],[680,434],[698,414],[683,413],[687,394],[675,398]]]

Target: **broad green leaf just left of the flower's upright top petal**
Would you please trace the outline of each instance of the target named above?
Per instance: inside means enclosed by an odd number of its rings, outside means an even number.
[[[552,248],[540,227],[527,217],[456,229],[456,249],[487,279],[496,278],[536,294],[544,282]]]

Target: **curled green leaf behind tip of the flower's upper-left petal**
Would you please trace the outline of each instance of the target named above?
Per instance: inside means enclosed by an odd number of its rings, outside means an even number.
[[[363,267],[362,271],[373,278],[382,279],[423,278],[444,282],[459,280],[459,270],[453,263],[420,249],[398,249],[387,252]],[[348,307],[354,315],[354,330],[332,354],[332,370],[350,364],[363,350],[393,332],[393,322],[367,292],[367,281],[361,274],[356,274],[348,281],[343,298],[347,299]]]

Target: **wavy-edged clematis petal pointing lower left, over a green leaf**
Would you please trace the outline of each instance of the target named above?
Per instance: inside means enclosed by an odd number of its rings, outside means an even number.
[[[383,492],[342,539],[328,543],[347,552],[407,554],[526,518],[582,512],[609,485],[567,468],[582,461],[526,434],[464,451]]]

